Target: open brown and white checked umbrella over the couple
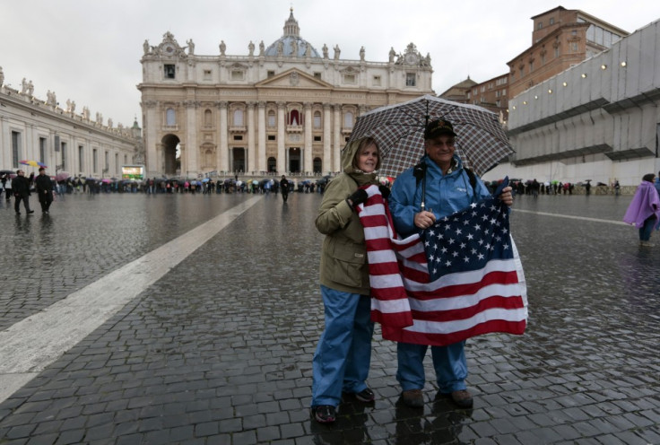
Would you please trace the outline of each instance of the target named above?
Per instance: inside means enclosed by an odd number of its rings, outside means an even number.
[[[456,154],[465,167],[480,176],[516,153],[495,113],[428,94],[363,114],[355,123],[349,142],[364,136],[376,139],[383,158],[378,173],[397,176],[420,161],[424,154],[424,127],[439,118],[451,122],[456,133]]]

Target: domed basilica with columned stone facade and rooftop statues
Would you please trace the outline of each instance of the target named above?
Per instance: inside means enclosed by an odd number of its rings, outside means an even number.
[[[341,57],[338,45],[317,50],[300,37],[293,11],[270,45],[247,54],[195,54],[166,32],[144,41],[143,138],[149,175],[327,174],[356,118],[431,89],[430,56],[410,43],[386,62],[365,48]],[[180,153],[180,156],[178,155]]]

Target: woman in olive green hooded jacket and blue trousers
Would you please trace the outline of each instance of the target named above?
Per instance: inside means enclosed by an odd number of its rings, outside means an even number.
[[[326,327],[312,363],[312,415],[334,422],[342,392],[362,402],[374,393],[366,384],[371,359],[369,265],[364,229],[355,207],[367,200],[361,188],[378,184],[378,145],[370,138],[347,144],[343,173],[331,180],[318,209],[316,225],[326,235],[321,252],[321,295]]]

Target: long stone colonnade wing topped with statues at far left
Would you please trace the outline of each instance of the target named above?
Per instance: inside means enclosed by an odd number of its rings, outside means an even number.
[[[0,67],[0,73],[3,73]],[[120,177],[126,164],[143,161],[142,129],[104,122],[97,112],[75,111],[75,102],[60,107],[55,92],[47,100],[39,98],[25,79],[21,90],[3,84],[0,76],[0,165],[7,170],[24,168],[21,161],[38,161],[48,166],[48,174],[66,172],[72,177]]]

